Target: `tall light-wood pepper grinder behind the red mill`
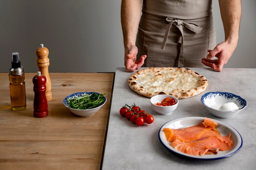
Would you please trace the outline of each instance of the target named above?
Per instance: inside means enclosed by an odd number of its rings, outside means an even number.
[[[49,63],[49,50],[44,47],[43,44],[40,44],[40,47],[38,49],[36,49],[36,56],[37,56],[37,66],[39,71],[41,72],[41,74],[43,74],[46,77],[46,99],[47,101],[52,100],[52,83],[51,83],[51,79],[49,76],[49,71],[48,71],[48,67],[50,65]]]

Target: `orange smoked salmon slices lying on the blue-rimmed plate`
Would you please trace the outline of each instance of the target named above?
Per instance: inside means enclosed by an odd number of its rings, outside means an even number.
[[[215,121],[205,118],[198,125],[181,129],[164,128],[166,139],[180,152],[191,155],[217,154],[219,150],[229,150],[233,145],[231,134],[221,136],[215,128]]]

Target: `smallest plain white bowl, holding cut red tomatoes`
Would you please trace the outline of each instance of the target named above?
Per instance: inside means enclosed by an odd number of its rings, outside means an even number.
[[[176,104],[171,105],[171,106],[156,105],[157,102],[161,103],[161,101],[163,101],[164,98],[166,98],[166,97],[174,98]],[[166,114],[170,114],[177,108],[177,106],[179,104],[179,100],[176,97],[168,95],[168,94],[159,94],[159,95],[151,97],[150,103],[151,103],[151,107],[153,108],[153,110],[155,110],[158,114],[166,115]]]

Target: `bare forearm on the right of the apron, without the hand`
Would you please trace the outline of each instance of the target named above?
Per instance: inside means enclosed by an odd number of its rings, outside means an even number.
[[[241,0],[219,0],[225,41],[237,45],[241,20]]]

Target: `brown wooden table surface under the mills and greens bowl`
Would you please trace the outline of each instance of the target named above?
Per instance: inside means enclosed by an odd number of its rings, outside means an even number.
[[[0,169],[100,169],[115,73],[49,73],[52,101],[45,118],[33,116],[35,75],[25,73],[27,108],[14,112],[8,73],[0,73]],[[106,104],[90,117],[63,105],[65,96],[84,91],[108,93]]]

